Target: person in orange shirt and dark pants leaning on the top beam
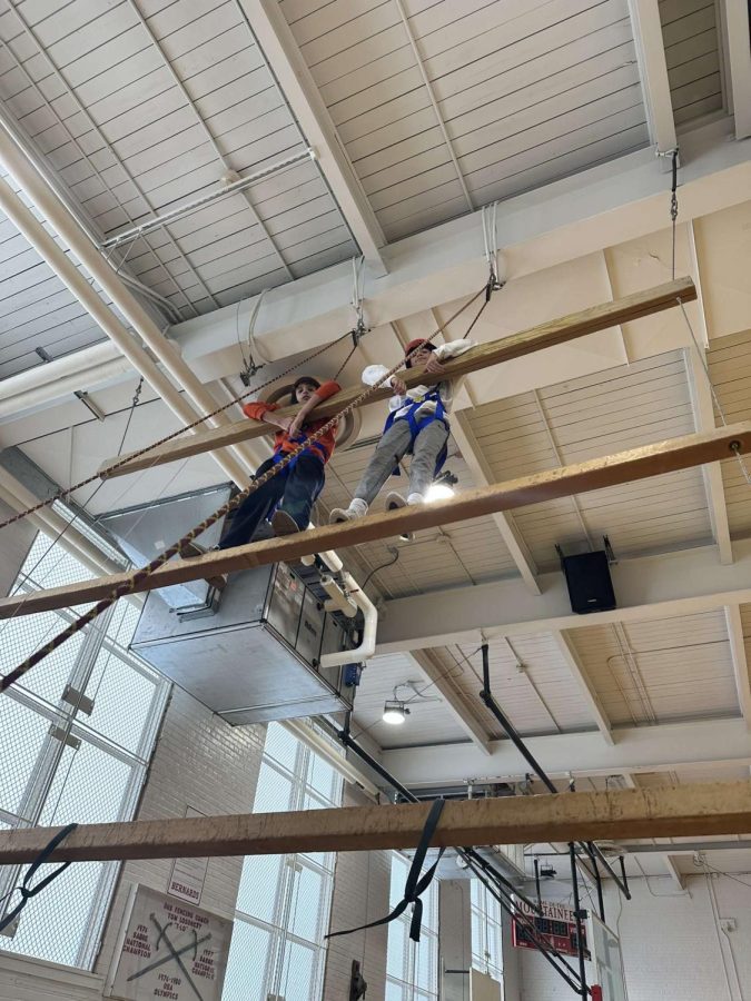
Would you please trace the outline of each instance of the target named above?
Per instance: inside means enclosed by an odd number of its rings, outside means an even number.
[[[274,438],[274,456],[263,463],[256,476],[263,476],[284,455],[294,452],[303,440],[317,432],[327,419],[308,422],[307,415],[324,399],[334,396],[342,387],[329,380],[319,383],[312,376],[300,376],[295,383],[290,403],[302,404],[294,417],[276,417],[279,404],[250,403],[243,412],[253,420],[264,420],[279,428]],[[276,508],[271,517],[275,535],[290,535],[307,528],[316,497],[324,488],[326,463],[336,447],[336,426],[330,427],[318,440],[250,494],[235,512],[229,531],[219,543],[220,549],[230,549],[250,542],[258,525]]]

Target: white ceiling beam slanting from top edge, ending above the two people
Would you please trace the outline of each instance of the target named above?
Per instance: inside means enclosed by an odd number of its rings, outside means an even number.
[[[386,238],[363,191],[295,37],[277,0],[239,0],[279,89],[316,158],[355,241],[376,276],[386,274]]]

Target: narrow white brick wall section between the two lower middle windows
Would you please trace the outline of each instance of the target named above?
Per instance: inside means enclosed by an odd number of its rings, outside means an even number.
[[[343,805],[373,804],[358,790],[345,785]],[[391,852],[339,852],[334,873],[332,931],[358,928],[388,913],[391,868]],[[367,1001],[383,1001],[387,941],[387,925],[330,939],[324,974],[324,1001],[346,1001],[349,997],[354,959],[360,962],[367,981]]]

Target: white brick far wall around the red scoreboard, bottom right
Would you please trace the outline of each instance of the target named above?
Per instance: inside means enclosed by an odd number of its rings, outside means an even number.
[[[620,918],[617,893],[607,892],[607,923],[621,936],[629,1001],[751,998],[751,874],[739,879],[750,885],[727,876],[713,878],[720,916],[734,918],[738,923],[737,931],[729,935],[715,928],[703,875],[686,878],[686,893],[681,893],[670,879],[650,878],[649,884],[643,879],[630,881],[633,900],[623,901]],[[730,945],[741,993],[734,980]],[[505,1001],[571,1001],[571,989],[544,959],[528,950],[518,952],[522,992],[506,992]]]

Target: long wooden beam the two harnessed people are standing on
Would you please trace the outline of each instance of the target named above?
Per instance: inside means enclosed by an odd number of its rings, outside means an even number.
[[[298,535],[220,549],[195,559],[171,561],[141,582],[137,589],[152,591],[215,574],[295,561],[313,553],[343,549],[379,538],[395,538],[405,532],[436,528],[525,504],[537,504],[661,473],[673,473],[675,469],[729,458],[733,454],[731,445],[739,453],[751,452],[751,422],[745,420],[703,435],[684,435],[653,445],[642,445],[603,458],[587,459],[585,463],[559,466],[534,476],[522,476],[506,483],[465,490],[455,497],[432,504],[403,507],[399,511],[368,515],[355,522],[300,532]],[[100,601],[108,597],[112,588],[128,576],[113,574],[80,584],[2,598],[0,618]]]

